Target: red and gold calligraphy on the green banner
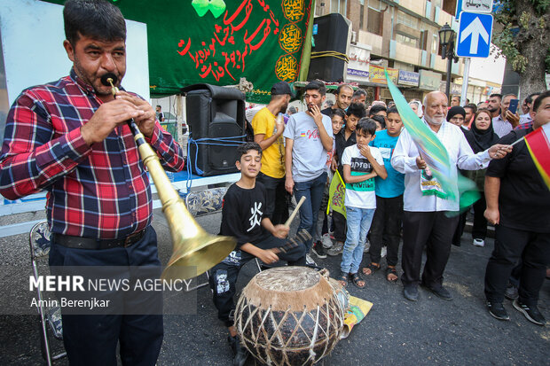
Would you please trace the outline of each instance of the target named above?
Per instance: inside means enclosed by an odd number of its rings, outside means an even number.
[[[268,3],[275,2],[244,0],[235,9],[228,8],[209,35],[180,39],[177,53],[184,58],[182,62],[193,66],[204,82],[234,84],[248,75],[250,63],[263,63],[262,54],[279,53],[271,68],[273,74],[294,82],[300,66],[300,55],[295,53],[302,50],[305,33],[297,22],[306,16],[306,0],[283,0],[278,4],[282,12],[274,12]],[[270,37],[279,43],[279,51],[266,46]],[[260,66],[263,73],[269,73],[269,64]],[[265,87],[271,89],[271,85]]]

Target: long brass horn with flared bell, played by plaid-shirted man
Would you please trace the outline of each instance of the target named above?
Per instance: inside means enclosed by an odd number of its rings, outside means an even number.
[[[101,77],[105,86],[112,88],[113,96],[118,93],[114,86],[115,74],[108,73]],[[169,181],[168,175],[161,166],[161,160],[145,137],[139,131],[134,120],[128,121],[134,140],[138,145],[139,156],[157,188],[162,203],[162,212],[169,223],[172,237],[172,256],[162,272],[162,278],[190,279],[206,272],[232,252],[237,243],[233,238],[208,234],[200,228],[193,215],[189,213],[183,199]]]

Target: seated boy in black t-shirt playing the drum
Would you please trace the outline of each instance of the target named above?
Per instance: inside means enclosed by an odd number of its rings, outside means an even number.
[[[263,184],[255,180],[262,167],[262,149],[259,144],[245,143],[237,151],[239,160],[235,165],[240,170],[240,180],[225,193],[220,228],[220,235],[237,239],[237,247],[224,261],[210,269],[209,282],[217,317],[228,327],[229,344],[235,354],[233,365],[243,365],[248,353],[240,345],[232,319],[235,309],[233,296],[240,269],[255,257],[266,264],[283,260],[289,265],[303,266],[305,246],[299,243],[285,253],[278,253],[277,248],[287,244],[288,228],[282,224],[273,225],[268,217],[263,217],[266,191]]]

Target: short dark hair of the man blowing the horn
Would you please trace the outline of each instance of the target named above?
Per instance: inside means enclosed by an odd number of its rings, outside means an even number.
[[[106,0],[67,0],[63,20],[65,36],[72,45],[80,35],[99,41],[126,41],[126,23],[122,12]]]

